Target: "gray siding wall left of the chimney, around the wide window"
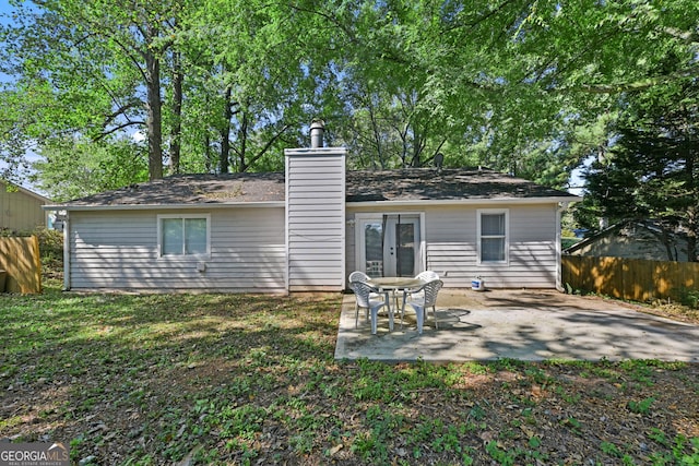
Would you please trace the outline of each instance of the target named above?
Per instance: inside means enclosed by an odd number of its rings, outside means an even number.
[[[209,258],[158,256],[157,215],[175,213],[211,215]],[[69,228],[72,289],[286,291],[282,207],[74,211]]]

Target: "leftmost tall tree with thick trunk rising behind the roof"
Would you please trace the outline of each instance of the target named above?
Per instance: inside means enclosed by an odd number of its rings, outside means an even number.
[[[81,97],[80,113],[88,126],[70,127],[68,120],[64,130],[92,139],[129,127],[144,130],[151,179],[163,177],[161,68],[178,3],[36,1],[34,8],[17,8],[25,25],[5,31],[5,43],[21,61],[15,70],[20,82],[48,86],[56,103],[66,94]],[[102,106],[90,106],[90,100]],[[63,113],[78,110],[62,108]]]

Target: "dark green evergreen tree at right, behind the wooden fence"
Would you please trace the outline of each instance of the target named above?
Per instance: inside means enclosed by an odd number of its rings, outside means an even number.
[[[690,260],[699,261],[699,85],[654,97],[632,103],[611,152],[588,171],[587,212],[682,229]]]

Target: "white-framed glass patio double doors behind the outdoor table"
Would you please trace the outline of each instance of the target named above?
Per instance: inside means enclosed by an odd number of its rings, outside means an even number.
[[[362,217],[359,264],[372,277],[412,277],[422,271],[420,215],[392,214]]]

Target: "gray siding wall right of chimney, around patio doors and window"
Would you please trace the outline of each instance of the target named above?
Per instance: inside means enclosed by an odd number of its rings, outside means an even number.
[[[508,208],[509,261],[507,264],[478,264],[478,208]],[[439,272],[445,286],[470,288],[471,279],[481,276],[486,287],[555,288],[558,258],[556,249],[556,204],[547,205],[462,205],[429,206],[425,213],[426,268]],[[415,213],[415,207],[406,212]],[[380,212],[350,207],[355,213]],[[391,212],[398,212],[391,208]],[[347,270],[356,268],[354,228],[347,227]]]

